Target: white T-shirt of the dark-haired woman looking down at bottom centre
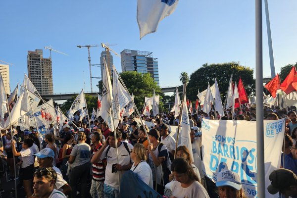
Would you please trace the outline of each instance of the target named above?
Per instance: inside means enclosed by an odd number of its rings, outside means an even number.
[[[176,198],[209,198],[206,190],[198,181],[193,182],[188,188],[183,188],[180,182],[174,181],[171,190],[172,196]]]

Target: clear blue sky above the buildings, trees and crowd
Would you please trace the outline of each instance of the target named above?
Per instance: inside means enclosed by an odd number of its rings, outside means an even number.
[[[269,0],[276,72],[297,62],[297,1]],[[180,85],[180,73],[193,73],[204,63],[239,61],[255,68],[254,0],[180,0],[156,33],[139,38],[137,0],[0,1],[0,60],[10,66],[10,87],[27,73],[27,51],[53,49],[54,93],[90,91],[87,49],[77,45],[109,43],[111,49],[152,51],[158,58],[160,86]],[[264,6],[264,3],[263,3]],[[263,7],[264,10],[264,7]],[[263,76],[270,76],[263,12]],[[103,49],[91,48],[93,64]],[[49,57],[49,50],[44,50]],[[114,64],[121,71],[120,58]],[[94,77],[100,76],[93,67]],[[244,79],[243,79],[244,80]],[[96,79],[93,89],[96,91]]]

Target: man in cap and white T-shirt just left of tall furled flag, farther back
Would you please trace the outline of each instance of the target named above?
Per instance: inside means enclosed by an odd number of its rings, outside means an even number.
[[[175,150],[175,139],[168,133],[168,125],[162,124],[158,128],[158,131],[161,135],[161,143],[163,143],[169,152],[171,152],[172,156],[174,156],[174,150]]]

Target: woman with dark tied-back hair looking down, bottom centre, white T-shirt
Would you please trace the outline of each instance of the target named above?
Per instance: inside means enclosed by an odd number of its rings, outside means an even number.
[[[187,159],[183,157],[174,159],[171,171],[176,180],[171,187],[171,198],[209,198]]]

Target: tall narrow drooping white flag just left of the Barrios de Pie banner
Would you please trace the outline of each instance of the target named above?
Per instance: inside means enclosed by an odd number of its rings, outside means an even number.
[[[208,85],[209,87],[209,85]],[[181,145],[186,146],[189,150],[192,150],[192,144],[191,144],[191,127],[189,122],[189,116],[188,116],[188,108],[187,108],[187,102],[186,102],[186,96],[184,96],[184,104],[183,104],[183,111],[182,111],[182,138],[181,138]],[[191,158],[193,158],[193,152],[190,152]]]

